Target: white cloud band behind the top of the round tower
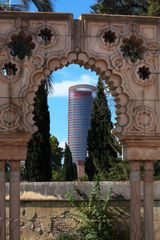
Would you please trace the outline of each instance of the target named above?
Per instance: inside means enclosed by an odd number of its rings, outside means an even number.
[[[97,84],[97,78],[87,74],[83,74],[80,76],[78,80],[75,80],[75,81],[64,80],[58,83],[54,82],[53,91],[49,95],[49,97],[68,97],[69,87],[77,84],[91,84],[95,86]]]

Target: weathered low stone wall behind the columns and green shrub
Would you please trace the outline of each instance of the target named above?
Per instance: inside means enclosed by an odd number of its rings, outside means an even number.
[[[76,213],[76,209],[69,204],[66,195],[71,193],[77,198],[74,187],[87,193],[93,185],[93,182],[21,183],[21,240],[56,239],[59,232],[65,232],[75,227],[76,223],[72,216]],[[6,188],[8,204],[8,184]],[[112,197],[115,194],[120,196],[118,201],[113,198],[111,204],[122,206],[129,213],[129,182],[101,182],[103,198],[110,188],[113,192]],[[141,198],[143,200],[143,185],[141,186]],[[159,240],[160,182],[154,183],[154,199],[155,240]]]

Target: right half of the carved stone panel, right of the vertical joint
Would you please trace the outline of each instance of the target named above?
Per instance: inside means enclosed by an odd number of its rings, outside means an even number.
[[[155,24],[148,26],[145,21],[134,23],[131,18],[124,24],[123,20],[117,21],[114,17],[108,21],[106,19],[106,23],[100,17],[99,21],[93,22],[89,15],[84,19],[86,36],[89,36],[85,45],[88,54],[96,56],[98,52],[111,70],[111,74],[106,74],[106,79],[117,108],[115,134],[145,136],[151,132],[157,133],[158,86],[155,72],[159,44]],[[111,43],[109,38],[108,41],[104,39],[104,33],[105,38],[110,33]],[[137,47],[137,52],[134,52],[138,56],[136,61],[125,57],[127,54],[123,55],[122,52],[122,45],[130,39],[135,41]],[[140,112],[137,109],[141,109]]]

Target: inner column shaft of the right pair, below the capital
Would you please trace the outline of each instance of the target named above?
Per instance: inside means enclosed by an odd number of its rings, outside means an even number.
[[[130,240],[140,240],[140,162],[130,162]]]

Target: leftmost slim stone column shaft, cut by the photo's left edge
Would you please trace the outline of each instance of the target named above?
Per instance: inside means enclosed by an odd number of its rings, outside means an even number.
[[[0,161],[0,239],[6,239],[5,161]]]

